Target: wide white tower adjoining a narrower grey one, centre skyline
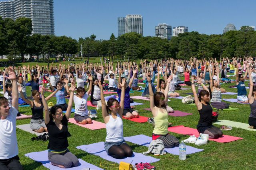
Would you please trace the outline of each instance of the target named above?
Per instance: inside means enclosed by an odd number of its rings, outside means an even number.
[[[125,16],[125,33],[137,32],[143,36],[143,21],[141,15]]]

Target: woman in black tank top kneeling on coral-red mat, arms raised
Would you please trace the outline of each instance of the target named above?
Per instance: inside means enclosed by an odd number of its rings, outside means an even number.
[[[200,115],[198,125],[196,125],[196,128],[199,133],[208,134],[209,138],[220,138],[222,137],[222,131],[219,128],[216,128],[212,125],[212,106],[209,103],[210,93],[199,78],[197,78],[197,83],[201,84],[204,88],[204,90],[200,91],[199,98],[196,94],[194,78],[192,76],[192,91],[194,93],[195,104]]]

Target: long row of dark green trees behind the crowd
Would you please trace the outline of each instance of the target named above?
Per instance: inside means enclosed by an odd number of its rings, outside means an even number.
[[[96,40],[96,35],[80,37],[77,40],[66,36],[31,35],[32,22],[29,18],[0,17],[0,55],[21,56],[30,54],[61,55],[79,54],[87,57],[93,53],[101,57],[114,57],[128,60],[156,58],[219,58],[233,56],[256,56],[256,32],[249,26],[242,26],[238,31],[228,31],[224,34],[199,34],[185,32],[171,40],[146,36],[130,32],[116,37],[113,33],[109,40]],[[82,45],[82,53],[80,47]],[[49,62],[50,62],[50,57]]]

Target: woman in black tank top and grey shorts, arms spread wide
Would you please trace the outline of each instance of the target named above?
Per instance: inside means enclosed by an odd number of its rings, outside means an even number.
[[[18,90],[20,92],[22,100],[24,100],[27,104],[29,104],[32,111],[30,128],[38,133],[47,132],[47,128],[46,128],[46,125],[44,122],[44,116],[43,116],[44,107],[42,104],[42,100],[40,100],[40,92],[38,90],[33,90],[31,93],[33,101],[31,101],[25,98],[25,96],[22,93],[22,87],[20,85],[18,85]],[[56,92],[58,92],[58,90],[59,89],[57,89],[55,92],[53,92],[48,97],[46,97],[45,100],[48,101],[52,96],[56,94]]]

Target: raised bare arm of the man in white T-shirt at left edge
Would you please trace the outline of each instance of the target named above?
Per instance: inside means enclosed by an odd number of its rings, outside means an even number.
[[[4,77],[8,78],[9,80],[12,80],[12,106],[16,108],[16,110],[19,110],[19,92],[16,78],[17,76],[14,70],[12,70],[12,67],[9,66],[9,70],[9,77]]]

